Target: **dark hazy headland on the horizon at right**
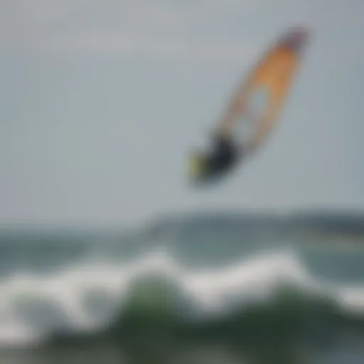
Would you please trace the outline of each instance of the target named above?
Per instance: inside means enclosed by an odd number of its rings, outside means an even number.
[[[147,226],[147,235],[180,231],[230,230],[242,233],[264,232],[279,237],[315,237],[318,240],[358,240],[364,243],[364,213],[343,211],[300,211],[291,214],[208,212],[178,213],[157,219]]]

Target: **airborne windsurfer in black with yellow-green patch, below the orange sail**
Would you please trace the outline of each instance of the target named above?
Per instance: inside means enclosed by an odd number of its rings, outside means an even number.
[[[228,172],[240,155],[240,149],[230,137],[215,135],[212,151],[193,155],[193,180],[203,181]]]

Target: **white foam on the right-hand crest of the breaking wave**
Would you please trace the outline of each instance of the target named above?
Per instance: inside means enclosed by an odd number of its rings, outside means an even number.
[[[314,288],[314,281],[294,255],[261,255],[248,262],[209,272],[191,272],[186,287],[205,309],[223,310],[229,302],[267,299],[283,282]]]

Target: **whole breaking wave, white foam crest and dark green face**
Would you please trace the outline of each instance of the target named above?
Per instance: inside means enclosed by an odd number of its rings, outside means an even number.
[[[204,269],[163,249],[119,264],[95,257],[47,275],[18,269],[0,292],[3,347],[166,326],[190,336],[278,327],[291,335],[316,330],[318,318],[328,328],[364,312],[364,287],[319,282],[289,250]]]

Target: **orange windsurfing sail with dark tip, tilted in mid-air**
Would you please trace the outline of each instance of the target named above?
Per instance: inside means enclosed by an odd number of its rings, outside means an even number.
[[[244,120],[252,124],[252,132],[243,143],[245,152],[262,144],[277,122],[308,35],[305,28],[294,28],[269,48],[235,91],[220,119],[218,133],[233,137],[235,127]],[[264,105],[258,110],[252,105],[257,95],[264,96]]]

